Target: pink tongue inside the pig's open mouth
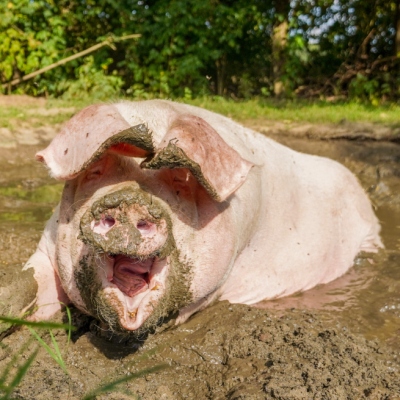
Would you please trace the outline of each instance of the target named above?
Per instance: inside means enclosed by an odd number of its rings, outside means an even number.
[[[147,290],[153,261],[153,258],[141,261],[123,255],[116,256],[112,282],[130,297]]]

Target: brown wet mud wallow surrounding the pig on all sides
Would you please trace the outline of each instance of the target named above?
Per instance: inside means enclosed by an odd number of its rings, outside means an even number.
[[[260,308],[218,302],[139,341],[109,335],[72,309],[78,327],[72,341],[62,330],[53,332],[68,374],[40,348],[13,398],[81,399],[115,380],[123,382],[96,398],[400,398],[400,145],[290,132],[274,139],[350,168],[376,207],[386,249],[372,258],[361,255],[328,285]],[[32,273],[21,267],[62,190],[33,161],[39,147],[22,145],[18,152],[0,147],[2,315],[18,315],[34,298]],[[65,321],[65,313],[56,319]],[[40,333],[51,343],[48,332]],[[25,328],[4,337],[0,373],[9,366],[10,381],[37,347]]]

